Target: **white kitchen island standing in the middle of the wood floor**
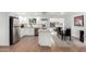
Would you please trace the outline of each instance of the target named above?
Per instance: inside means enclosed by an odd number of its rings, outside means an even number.
[[[39,34],[38,36],[39,46],[51,47],[52,43],[54,43],[49,29],[39,29],[38,34]]]

